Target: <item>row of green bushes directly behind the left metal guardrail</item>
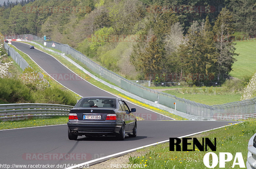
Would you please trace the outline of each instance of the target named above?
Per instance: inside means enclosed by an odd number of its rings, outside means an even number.
[[[45,90],[31,90],[19,79],[0,78],[0,100],[2,103],[49,103],[75,106],[72,92],[56,86]]]

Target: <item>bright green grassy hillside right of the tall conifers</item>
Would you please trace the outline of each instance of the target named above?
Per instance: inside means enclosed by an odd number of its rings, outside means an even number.
[[[236,62],[233,64],[233,71],[230,75],[239,79],[252,76],[256,71],[256,39],[237,41],[236,43]]]

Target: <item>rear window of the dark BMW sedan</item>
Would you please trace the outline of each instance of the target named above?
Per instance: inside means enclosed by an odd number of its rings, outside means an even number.
[[[80,99],[75,108],[78,107],[111,107],[116,108],[115,99]]]

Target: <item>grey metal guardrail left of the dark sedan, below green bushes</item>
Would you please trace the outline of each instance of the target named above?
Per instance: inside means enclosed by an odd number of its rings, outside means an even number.
[[[20,103],[0,104],[0,120],[13,121],[38,116],[68,115],[73,106],[58,104]]]

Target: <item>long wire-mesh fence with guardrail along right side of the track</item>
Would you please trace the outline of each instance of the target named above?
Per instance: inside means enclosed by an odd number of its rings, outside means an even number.
[[[175,102],[176,110],[180,113],[185,113],[186,117],[190,117],[188,119],[210,120],[210,119],[244,119],[248,117],[256,117],[256,106],[255,106],[256,98],[231,102],[231,103],[222,104],[222,105],[213,105],[213,106],[196,103],[194,101],[181,99],[181,98],[175,97],[174,95],[164,93],[164,92],[158,92],[158,91],[146,88],[144,86],[135,84],[133,82],[130,82],[124,77],[121,77],[116,73],[109,71],[106,68],[103,68],[102,66],[100,66],[99,64],[93,62],[92,60],[87,58],[85,55],[83,55],[81,52],[75,50],[74,48],[71,48],[67,44],[61,44],[55,41],[46,41],[43,38],[31,35],[31,34],[6,37],[6,39],[18,39],[18,38],[23,40],[35,41],[41,45],[45,45],[47,48],[58,49],[61,51],[61,53],[65,53],[65,55],[71,55],[75,59],[83,62],[92,71],[104,77],[105,79],[108,79],[109,81],[113,82],[117,86],[120,86],[122,89],[140,98],[151,101],[153,103],[157,101],[155,106],[158,106],[158,107],[166,106],[168,108],[171,107],[172,111],[174,111],[173,109],[175,105],[173,103]],[[53,43],[55,47],[52,47]],[[56,53],[56,51],[54,52]],[[182,117],[185,117],[185,116],[182,116]]]

